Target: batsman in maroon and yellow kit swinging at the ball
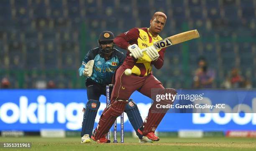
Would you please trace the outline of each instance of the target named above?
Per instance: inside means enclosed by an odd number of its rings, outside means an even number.
[[[111,102],[100,117],[97,128],[92,134],[92,139],[103,143],[101,138],[108,133],[116,117],[125,110],[128,99],[134,91],[138,91],[147,97],[151,96],[151,89],[159,89],[158,94],[177,94],[175,89],[165,89],[161,82],[152,74],[152,66],[161,69],[164,64],[165,48],[156,50],[153,43],[162,38],[158,35],[166,23],[166,15],[163,12],[155,12],[150,20],[149,28],[133,28],[114,39],[118,47],[128,50],[123,64],[115,73],[115,85],[111,95]],[[146,49],[142,52],[142,49]],[[132,56],[130,56],[132,54]],[[130,76],[124,74],[125,69],[131,69]],[[113,79],[114,80],[114,79]],[[148,111],[138,133],[153,141],[159,141],[154,132],[168,109],[158,109],[156,104],[169,105],[174,100],[164,99],[155,101]]]

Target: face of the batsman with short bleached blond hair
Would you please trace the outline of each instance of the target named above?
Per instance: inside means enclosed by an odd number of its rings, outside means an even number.
[[[165,18],[162,16],[156,16],[154,20],[150,20],[151,31],[154,33],[160,33],[164,29]]]

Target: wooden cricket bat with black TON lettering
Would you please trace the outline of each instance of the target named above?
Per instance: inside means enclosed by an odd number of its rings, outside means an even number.
[[[187,31],[187,32],[182,32],[180,34],[177,34],[177,35],[173,35],[171,37],[167,37],[163,40],[160,40],[158,42],[154,42],[153,43],[153,46],[156,48],[156,49],[162,49],[162,48],[166,48],[166,47],[169,47],[169,46],[172,46],[172,45],[176,45],[176,44],[179,44],[179,43],[182,43],[182,42],[186,42],[188,40],[192,40],[192,39],[195,39],[195,38],[199,38],[200,35],[198,33],[197,30],[190,30],[190,31]],[[142,52],[146,51],[146,49],[143,49]],[[130,56],[132,56],[133,54],[130,54]]]

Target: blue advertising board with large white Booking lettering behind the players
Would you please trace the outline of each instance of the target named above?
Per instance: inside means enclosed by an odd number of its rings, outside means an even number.
[[[226,103],[225,110],[210,110],[210,113],[186,113],[182,110],[167,113],[158,131],[178,131],[180,129],[200,129],[204,131],[256,130],[256,91],[227,90],[179,90],[180,94],[202,94],[206,104]],[[151,106],[151,99],[139,92],[131,98],[137,103],[143,119]],[[0,131],[40,129],[80,130],[82,108],[87,101],[86,90],[0,90]],[[105,97],[100,98],[95,126],[106,106]],[[175,101],[178,104],[180,101]],[[240,109],[243,114],[233,113]],[[171,109],[172,110],[172,109]],[[217,111],[218,112],[218,111]],[[125,131],[133,128],[125,114]],[[120,118],[118,118],[120,124]],[[120,127],[120,126],[118,126]]]

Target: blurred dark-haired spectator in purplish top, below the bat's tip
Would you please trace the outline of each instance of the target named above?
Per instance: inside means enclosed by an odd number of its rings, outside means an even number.
[[[198,66],[194,76],[194,88],[212,88],[215,72],[208,68],[204,57],[198,59]]]

